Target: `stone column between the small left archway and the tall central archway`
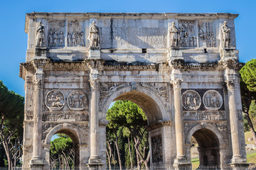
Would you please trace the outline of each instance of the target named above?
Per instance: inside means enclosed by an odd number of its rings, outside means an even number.
[[[99,94],[99,67],[103,64],[103,60],[87,60],[87,65],[90,67],[90,159],[87,166],[89,169],[95,169],[102,165],[101,159],[97,153],[97,128],[99,120],[97,118],[98,112],[98,94]]]

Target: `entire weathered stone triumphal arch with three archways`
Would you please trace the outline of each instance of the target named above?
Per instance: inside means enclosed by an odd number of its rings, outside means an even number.
[[[46,167],[50,139],[73,140],[75,166],[106,164],[110,103],[137,103],[150,164],[246,163],[239,57],[231,13],[27,13],[20,65],[23,168]]]

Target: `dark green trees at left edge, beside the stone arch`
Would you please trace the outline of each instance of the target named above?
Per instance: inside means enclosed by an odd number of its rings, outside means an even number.
[[[22,154],[24,98],[9,91],[3,81],[0,81],[0,115],[0,142],[9,169],[14,169]]]

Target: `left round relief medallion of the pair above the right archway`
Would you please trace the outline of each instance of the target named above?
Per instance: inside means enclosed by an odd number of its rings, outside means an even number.
[[[174,99],[175,100],[175,99]],[[197,110],[201,106],[200,95],[193,90],[187,90],[182,94],[182,106],[188,111]]]

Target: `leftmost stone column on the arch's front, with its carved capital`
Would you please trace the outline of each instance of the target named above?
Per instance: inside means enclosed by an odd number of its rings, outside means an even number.
[[[43,67],[47,60],[33,60],[36,69],[34,77],[34,108],[33,108],[33,156],[31,169],[43,167],[42,159],[42,104],[43,104]]]

